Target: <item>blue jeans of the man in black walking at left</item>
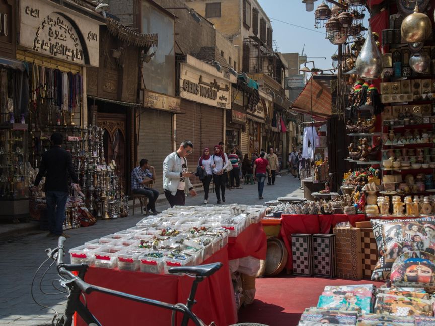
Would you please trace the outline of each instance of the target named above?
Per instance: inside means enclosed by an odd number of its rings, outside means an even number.
[[[47,199],[49,230],[51,233],[60,235],[63,233],[68,193],[66,191],[48,190],[45,192],[45,198]]]

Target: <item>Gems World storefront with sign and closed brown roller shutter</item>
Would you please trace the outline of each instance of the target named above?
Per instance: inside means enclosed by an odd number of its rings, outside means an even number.
[[[235,77],[232,77],[235,82]],[[221,141],[225,143],[226,111],[231,105],[231,78],[227,79],[211,65],[187,55],[180,63],[179,90],[181,113],[177,115],[177,146],[186,139],[193,142],[188,158],[190,169],[196,167],[202,150]],[[199,179],[193,179],[199,183]]]

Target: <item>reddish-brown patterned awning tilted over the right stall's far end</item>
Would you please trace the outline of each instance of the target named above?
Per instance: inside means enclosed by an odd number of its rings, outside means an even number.
[[[300,113],[328,118],[332,115],[331,80],[336,76],[312,76],[291,109]]]

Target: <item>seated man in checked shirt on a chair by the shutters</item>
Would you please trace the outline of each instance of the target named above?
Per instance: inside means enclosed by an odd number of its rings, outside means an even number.
[[[134,195],[145,195],[148,198],[148,210],[154,215],[159,212],[156,210],[156,200],[159,192],[156,189],[149,188],[156,180],[154,167],[148,164],[148,159],[140,160],[140,166],[135,167],[131,172],[131,192]]]

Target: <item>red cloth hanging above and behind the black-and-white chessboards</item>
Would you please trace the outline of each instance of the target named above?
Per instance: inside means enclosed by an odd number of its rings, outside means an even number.
[[[363,214],[344,215],[281,215],[281,236],[288,251],[287,272],[293,269],[292,257],[292,234],[329,234],[331,227],[337,223],[350,222],[355,226],[355,222],[365,221]]]

